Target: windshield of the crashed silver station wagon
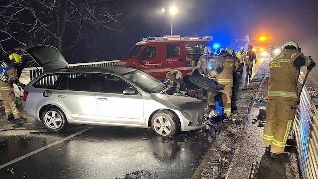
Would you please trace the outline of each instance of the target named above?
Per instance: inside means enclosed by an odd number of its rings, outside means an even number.
[[[139,70],[126,73],[123,76],[148,93],[160,92],[164,86],[164,83],[160,80],[157,80],[149,74]]]

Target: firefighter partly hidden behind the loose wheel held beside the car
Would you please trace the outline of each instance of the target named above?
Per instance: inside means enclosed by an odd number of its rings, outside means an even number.
[[[199,73],[202,74],[202,76],[206,76],[211,70],[214,69],[216,61],[217,59],[214,57],[211,47],[206,46],[204,48],[204,54],[201,55],[201,57],[199,58],[199,61],[196,67],[199,70]],[[208,100],[207,90],[202,88],[202,93],[203,93],[202,99]]]

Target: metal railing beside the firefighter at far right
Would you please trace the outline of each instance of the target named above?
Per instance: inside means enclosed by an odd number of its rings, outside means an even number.
[[[299,82],[302,84],[303,79],[300,78]],[[302,178],[318,178],[317,114],[317,108],[304,87],[293,124]]]

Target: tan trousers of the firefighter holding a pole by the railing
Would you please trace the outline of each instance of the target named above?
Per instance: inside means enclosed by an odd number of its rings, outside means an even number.
[[[263,142],[267,147],[271,145],[272,153],[284,152],[296,109],[296,101],[268,100]]]

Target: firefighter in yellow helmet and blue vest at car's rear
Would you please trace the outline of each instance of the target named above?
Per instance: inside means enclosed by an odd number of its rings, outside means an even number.
[[[13,90],[13,83],[22,89],[25,84],[21,83],[17,77],[16,68],[21,65],[22,58],[16,53],[9,55],[9,59],[5,59],[0,65],[0,93],[5,107],[7,121],[11,123],[24,123],[26,118],[22,117],[17,105],[16,96]]]

